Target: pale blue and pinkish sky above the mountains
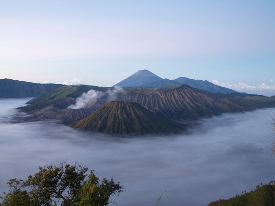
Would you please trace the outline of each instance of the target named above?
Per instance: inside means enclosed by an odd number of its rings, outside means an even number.
[[[275,1],[1,1],[0,79],[112,86],[147,69],[275,95]]]

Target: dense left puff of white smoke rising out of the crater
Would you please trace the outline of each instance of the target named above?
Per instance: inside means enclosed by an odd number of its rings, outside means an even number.
[[[70,105],[68,108],[69,109],[86,108],[91,100],[101,98],[104,95],[105,95],[104,92],[91,89],[87,93],[84,92],[81,96],[77,97],[75,105]]]

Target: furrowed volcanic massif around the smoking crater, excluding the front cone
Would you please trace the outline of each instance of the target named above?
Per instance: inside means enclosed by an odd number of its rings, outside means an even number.
[[[68,109],[76,103],[76,98],[89,89],[108,92],[110,88],[88,85],[73,85],[60,87],[40,97],[32,99],[29,105],[19,107],[29,115],[24,121],[39,121],[43,119],[60,120],[63,123],[88,117],[110,100],[91,99],[88,108]],[[112,88],[114,89],[114,88]],[[272,97],[251,96],[253,100],[234,98],[219,93],[211,93],[187,85],[160,88],[126,88],[126,94],[118,96],[113,101],[136,102],[159,117],[176,121],[195,120],[200,117],[210,117],[223,112],[242,112],[263,107],[274,107]],[[250,96],[246,95],[246,98]]]

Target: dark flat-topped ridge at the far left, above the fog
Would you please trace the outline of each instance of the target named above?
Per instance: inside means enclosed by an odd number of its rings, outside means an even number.
[[[0,98],[36,97],[54,89],[61,84],[37,84],[27,81],[0,79]]]

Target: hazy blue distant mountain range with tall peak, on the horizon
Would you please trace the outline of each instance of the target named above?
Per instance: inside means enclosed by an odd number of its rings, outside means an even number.
[[[176,86],[176,85],[188,85],[190,87],[194,87],[197,89],[204,89],[208,92],[212,93],[238,93],[232,89],[228,89],[222,86],[215,85],[209,81],[202,81],[202,80],[194,80],[189,79],[186,77],[179,77],[174,80],[169,79],[162,79],[156,74],[148,70],[139,70],[136,73],[132,74],[130,77],[120,81],[114,86],[122,86],[122,87],[150,87],[150,88],[157,88],[157,87],[169,87],[169,86]]]

